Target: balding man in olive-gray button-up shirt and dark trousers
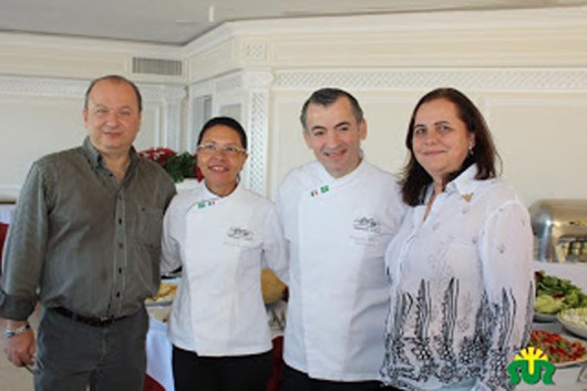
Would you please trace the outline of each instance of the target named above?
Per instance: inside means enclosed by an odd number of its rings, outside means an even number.
[[[140,391],[144,300],[159,284],[165,208],[175,194],[132,144],[142,99],[109,75],[87,89],[81,147],[37,161],[20,192],[3,254],[6,353],[37,364],[35,390]],[[42,303],[37,347],[27,319]]]

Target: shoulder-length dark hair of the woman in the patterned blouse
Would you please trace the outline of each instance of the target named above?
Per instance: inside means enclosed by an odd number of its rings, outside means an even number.
[[[472,164],[476,164],[477,166],[477,173],[475,175],[476,179],[484,181],[497,175],[495,161],[500,160],[500,156],[495,148],[495,144],[493,143],[493,137],[487,123],[478,109],[459,90],[450,88],[433,90],[418,101],[418,104],[412,112],[410,125],[408,126],[408,134],[405,136],[405,146],[410,151],[410,156],[408,163],[403,167],[400,184],[402,186],[402,198],[411,206],[420,205],[424,202],[426,188],[432,183],[432,177],[426,173],[424,167],[418,163],[414,156],[412,141],[415,115],[422,104],[435,100],[446,100],[452,102],[456,106],[456,114],[461,121],[464,122],[466,130],[475,135],[475,146],[471,151],[472,153],[465,157],[460,169],[451,173],[444,178],[444,184],[446,185],[449,182],[457,177]]]

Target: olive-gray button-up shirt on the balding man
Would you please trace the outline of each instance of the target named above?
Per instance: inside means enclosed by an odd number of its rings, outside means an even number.
[[[89,138],[33,163],[2,261],[0,316],[24,320],[37,301],[93,317],[140,310],[159,284],[165,171],[134,148],[122,183]]]

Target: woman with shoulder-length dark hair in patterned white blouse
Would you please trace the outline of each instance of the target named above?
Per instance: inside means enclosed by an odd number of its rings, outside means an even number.
[[[405,390],[506,390],[533,316],[532,229],[475,105],[429,92],[410,121],[401,181],[412,206],[388,247],[382,380]]]

